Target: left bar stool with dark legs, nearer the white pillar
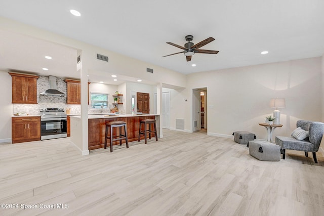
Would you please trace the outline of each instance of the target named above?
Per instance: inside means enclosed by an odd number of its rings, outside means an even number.
[[[121,134],[121,127],[124,126],[125,135]],[[108,129],[110,127],[110,137],[108,137]],[[119,137],[113,137],[113,128],[119,127]],[[112,142],[119,140],[119,145],[121,146],[121,140],[126,140],[126,148],[128,148],[128,139],[127,139],[127,123],[125,121],[110,121],[106,123],[106,134],[105,134],[105,149],[107,148],[107,139],[110,140],[110,152],[112,152]]]

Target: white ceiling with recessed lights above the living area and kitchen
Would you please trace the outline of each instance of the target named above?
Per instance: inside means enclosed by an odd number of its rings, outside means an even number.
[[[322,0],[11,0],[0,1],[0,16],[188,74],[322,56],[323,8]],[[74,17],[70,9],[79,11],[82,16]],[[0,44],[3,50],[0,54],[12,58],[0,60],[1,67],[27,71],[43,67],[37,65],[41,60],[24,61],[15,54],[26,55],[26,41],[0,33],[0,39],[6,39]],[[183,46],[188,34],[194,36],[194,44],[214,37],[216,40],[200,49],[220,52],[195,54],[190,62],[186,62],[183,54],[161,58],[181,52],[166,42]],[[40,45],[45,44],[46,41],[40,41]],[[24,49],[19,50],[18,46]],[[7,55],[4,47],[13,55]],[[74,52],[64,49],[68,48],[59,46],[57,51],[62,55]],[[56,49],[52,47],[52,50]],[[264,50],[269,53],[260,55]],[[28,49],[27,55],[43,51],[38,46]],[[71,63],[63,63],[64,59],[68,58],[61,58],[62,63],[56,62],[57,66],[75,67],[74,56]],[[193,63],[197,66],[191,67]]]

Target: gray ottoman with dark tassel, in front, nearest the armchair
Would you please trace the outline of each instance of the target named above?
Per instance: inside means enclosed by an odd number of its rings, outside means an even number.
[[[259,160],[280,161],[280,146],[267,141],[250,141],[249,153]]]

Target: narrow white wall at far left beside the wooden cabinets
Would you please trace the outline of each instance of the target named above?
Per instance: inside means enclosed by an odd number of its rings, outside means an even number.
[[[11,76],[8,72],[0,71],[0,143],[11,141],[11,116],[13,114]]]

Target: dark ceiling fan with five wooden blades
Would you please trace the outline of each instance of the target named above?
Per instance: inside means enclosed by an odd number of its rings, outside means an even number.
[[[198,42],[198,44],[193,44],[193,42],[190,42],[193,39],[192,35],[187,35],[185,38],[188,42],[184,45],[184,47],[173,44],[173,42],[167,42],[167,44],[183,49],[184,51],[179,53],[183,53],[186,56],[187,62],[191,60],[191,56],[193,56],[195,53],[217,54],[219,52],[216,50],[198,50],[200,47],[203,47],[209,44],[210,42],[212,42],[213,40],[215,40],[213,37],[209,37],[203,41],[200,41]],[[167,56],[172,56],[179,53],[174,53]],[[167,56],[162,56],[162,57],[167,57]]]

